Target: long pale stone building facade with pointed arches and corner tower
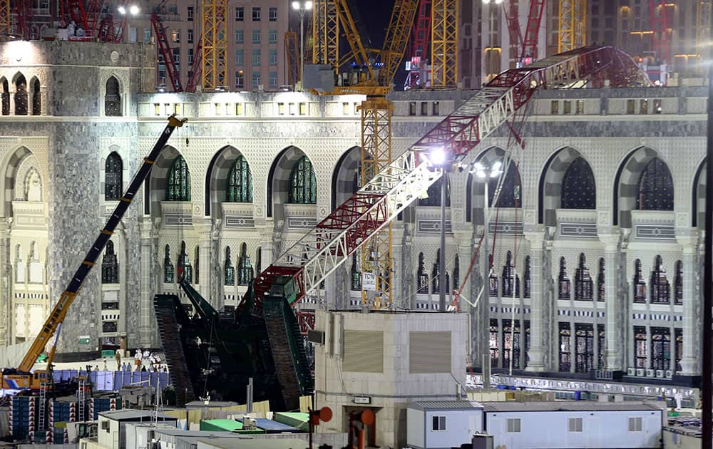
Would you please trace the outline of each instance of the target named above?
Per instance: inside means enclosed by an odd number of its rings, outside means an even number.
[[[236,305],[256,272],[359,183],[360,96],[153,93],[148,47],[26,45],[0,47],[3,344],[39,329],[170,113],[189,122],[86,280],[62,353],[121,338],[158,346],[153,295],[178,291],[179,266],[212,304]],[[25,91],[39,103],[20,115]],[[396,153],[470,95],[394,93]],[[473,366],[512,361],[574,378],[601,368],[651,382],[699,375],[705,96],[686,86],[540,92],[524,148],[501,130],[453,170],[445,282],[471,314]],[[487,250],[472,259],[485,186],[468,164],[505,155]],[[498,178],[488,187],[498,191]],[[394,222],[396,309],[437,309],[441,209],[438,190],[427,193]],[[302,307],[359,308],[359,272],[356,258],[344,264]]]

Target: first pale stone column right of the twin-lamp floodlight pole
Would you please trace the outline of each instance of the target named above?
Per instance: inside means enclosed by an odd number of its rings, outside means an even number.
[[[545,371],[544,294],[542,279],[544,232],[525,232],[530,242],[530,351],[527,371]]]

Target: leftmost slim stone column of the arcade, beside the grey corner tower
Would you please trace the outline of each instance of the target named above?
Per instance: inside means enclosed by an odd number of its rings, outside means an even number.
[[[151,276],[155,264],[152,261],[157,257],[153,254],[153,225],[150,217],[144,217],[139,224],[141,236],[141,299],[139,306],[139,338],[140,346],[150,348],[152,344],[151,318],[153,317],[153,281]],[[160,267],[160,264],[158,264]],[[159,277],[163,273],[157,274]],[[135,345],[136,342],[130,342]]]

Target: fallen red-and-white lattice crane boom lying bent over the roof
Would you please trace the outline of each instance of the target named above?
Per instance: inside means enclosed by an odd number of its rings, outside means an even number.
[[[540,88],[651,86],[634,61],[614,47],[586,47],[501,73],[423,138],[381,170],[334,212],[255,277],[255,305],[277,276],[294,277],[299,301],[411,202],[441,173],[421,163],[422,153],[443,148],[458,162],[508,123]]]

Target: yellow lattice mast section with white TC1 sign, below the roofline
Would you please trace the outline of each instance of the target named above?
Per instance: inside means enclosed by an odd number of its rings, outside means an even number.
[[[383,96],[366,98],[361,103],[361,182],[371,180],[391,163],[391,115],[394,105]],[[391,223],[374,235],[361,250],[361,272],[376,276],[373,298],[361,284],[361,302],[376,309],[391,306],[393,275]],[[373,300],[373,301],[372,301]]]

